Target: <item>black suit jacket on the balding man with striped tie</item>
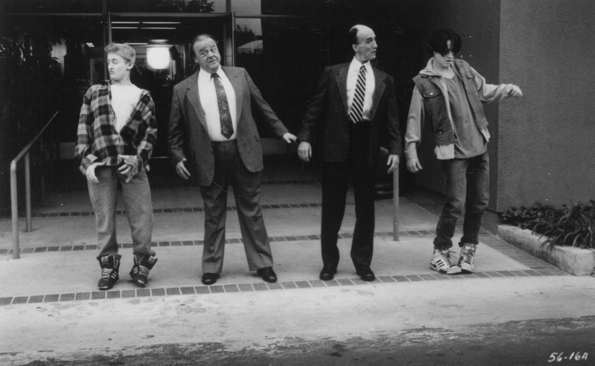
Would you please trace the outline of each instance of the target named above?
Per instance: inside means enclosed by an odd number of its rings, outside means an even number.
[[[350,62],[329,66],[312,96],[302,130],[297,136],[300,141],[312,143],[320,138],[323,161],[343,161],[349,148],[349,126],[347,117],[347,70]],[[399,110],[394,92],[393,78],[389,74],[372,68],[375,88],[372,96],[372,117],[369,138],[369,161],[378,159],[380,146],[389,154],[400,153]],[[382,145],[381,145],[381,142]]]

